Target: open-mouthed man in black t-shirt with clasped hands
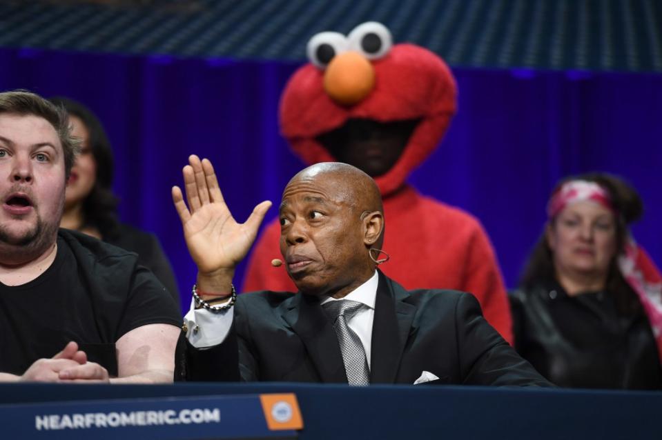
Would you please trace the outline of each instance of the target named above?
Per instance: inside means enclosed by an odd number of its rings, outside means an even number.
[[[64,109],[0,93],[0,381],[172,381],[179,314],[137,255],[59,229]]]

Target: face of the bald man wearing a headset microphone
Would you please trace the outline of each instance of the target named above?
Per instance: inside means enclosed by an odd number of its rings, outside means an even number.
[[[304,293],[347,294],[372,272],[350,187],[321,173],[297,177],[283,192],[280,252]]]

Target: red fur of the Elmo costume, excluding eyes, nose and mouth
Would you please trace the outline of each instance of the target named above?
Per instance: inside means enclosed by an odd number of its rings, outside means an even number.
[[[384,201],[384,251],[391,259],[380,266],[408,290],[445,288],[471,292],[483,314],[512,342],[507,294],[487,234],[470,214],[422,196],[405,180],[438,145],[456,107],[455,81],[435,54],[398,44],[382,59],[371,61],[376,82],[359,103],[341,106],[324,91],[324,71],[303,66],[282,96],[281,130],[295,154],[306,163],[335,161],[318,141],[320,134],[348,119],[380,123],[418,120],[395,165],[375,178]],[[244,279],[244,292],[296,291],[284,268],[269,263],[280,257],[278,219],[257,242]],[[380,256],[382,257],[382,256]]]

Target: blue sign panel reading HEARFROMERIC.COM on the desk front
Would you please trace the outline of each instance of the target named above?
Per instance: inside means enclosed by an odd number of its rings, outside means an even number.
[[[291,402],[277,398],[269,410],[262,403],[260,395],[243,394],[0,405],[0,423],[4,438],[295,438],[295,430],[274,427],[265,418],[287,413],[283,408]]]

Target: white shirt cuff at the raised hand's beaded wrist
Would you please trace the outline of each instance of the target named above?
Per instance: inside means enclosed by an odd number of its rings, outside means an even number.
[[[230,332],[234,308],[221,312],[210,312],[204,308],[195,308],[191,299],[191,309],[184,316],[186,339],[195,348],[211,348],[222,343]]]

